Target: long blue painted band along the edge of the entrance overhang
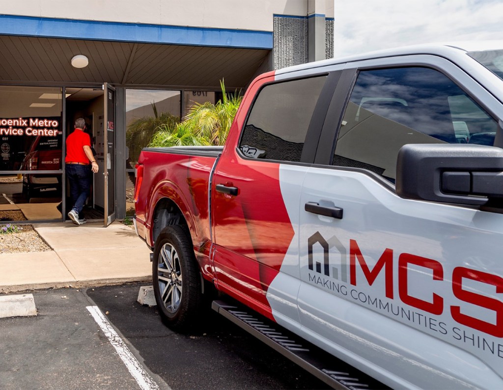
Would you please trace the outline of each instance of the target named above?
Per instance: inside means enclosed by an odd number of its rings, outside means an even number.
[[[0,15],[0,35],[272,49],[269,31]]]

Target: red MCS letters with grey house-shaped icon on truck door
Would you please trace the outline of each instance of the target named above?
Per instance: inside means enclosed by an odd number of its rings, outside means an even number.
[[[398,290],[398,298],[408,306],[424,310],[435,315],[450,314],[452,319],[459,324],[469,328],[484,332],[494,337],[503,338],[503,278],[496,274],[470,269],[466,267],[454,267],[452,271],[444,270],[444,265],[433,258],[418,256],[411,253],[395,253],[393,249],[385,248],[381,256],[371,269],[367,264],[356,240],[349,240],[349,265],[347,260],[346,247],[337,239],[332,237],[328,241],[316,232],[308,238],[308,268],[317,274],[328,278],[339,279],[357,285],[357,267],[361,273],[360,283],[372,286],[379,276],[384,274],[384,294],[389,299],[394,299],[394,293]],[[323,263],[314,261],[313,246],[321,245],[323,248]],[[336,247],[341,255],[341,275],[339,270],[331,267],[329,250]],[[413,266],[413,267],[411,267]],[[393,268],[396,267],[395,275],[398,280],[393,280]],[[349,273],[348,273],[349,268]],[[420,271],[421,270],[421,271]],[[365,280],[362,280],[361,276]],[[431,291],[424,289],[424,295],[414,296],[411,293],[411,276],[414,275],[413,283],[427,279],[432,283]],[[469,287],[471,281],[489,285],[495,294],[480,293],[482,290],[473,290]],[[325,285],[325,283],[323,283]],[[433,285],[435,288],[433,288]],[[434,291],[435,290],[435,291]],[[382,291],[377,291],[377,295]],[[450,296],[456,299],[450,301]],[[479,318],[478,311],[473,310],[475,306],[493,312],[495,321],[489,322],[485,318]]]

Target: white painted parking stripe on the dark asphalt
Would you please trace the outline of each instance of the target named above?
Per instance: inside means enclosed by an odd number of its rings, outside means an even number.
[[[117,354],[120,356],[133,378],[136,379],[140,388],[142,388],[143,390],[158,390],[159,386],[157,386],[157,383],[153,381],[153,379],[143,369],[138,360],[136,360],[124,341],[112,328],[110,322],[108,322],[107,318],[103,315],[98,306],[87,306],[86,308],[98,323],[98,326],[101,328],[103,333],[105,333],[105,336],[107,336],[110,344],[112,344],[112,346],[115,348]]]

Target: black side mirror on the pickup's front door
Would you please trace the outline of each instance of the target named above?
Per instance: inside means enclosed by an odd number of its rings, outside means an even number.
[[[405,199],[481,206],[503,201],[503,149],[466,144],[408,144],[396,163]]]

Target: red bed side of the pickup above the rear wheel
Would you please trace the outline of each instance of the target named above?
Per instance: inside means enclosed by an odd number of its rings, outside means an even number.
[[[222,149],[180,146],[142,150],[139,165],[142,166],[143,184],[136,188],[136,225],[138,235],[150,247],[153,247],[160,230],[152,229],[149,221],[169,218],[162,213],[167,210],[173,213],[176,209],[187,220],[196,252],[204,250],[201,246],[210,241],[209,180]]]

